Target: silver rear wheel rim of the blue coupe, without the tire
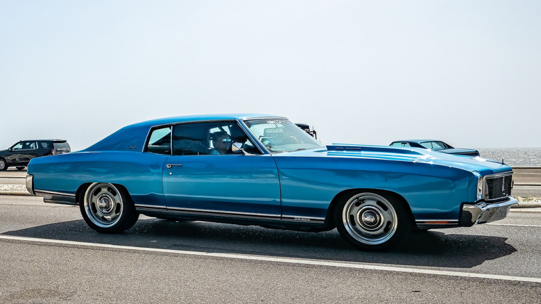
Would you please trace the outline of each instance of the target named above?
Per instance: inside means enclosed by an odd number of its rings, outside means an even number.
[[[114,185],[94,183],[85,193],[85,213],[92,223],[107,228],[118,223],[123,212],[122,197]]]

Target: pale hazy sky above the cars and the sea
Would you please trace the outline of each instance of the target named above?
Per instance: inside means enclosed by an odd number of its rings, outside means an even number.
[[[257,112],[324,144],[541,147],[541,1],[0,0],[0,149]]]

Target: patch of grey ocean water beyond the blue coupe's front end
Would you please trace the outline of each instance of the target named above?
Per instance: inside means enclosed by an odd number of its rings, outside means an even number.
[[[511,167],[541,167],[541,148],[486,148],[477,149],[481,158],[490,158]]]

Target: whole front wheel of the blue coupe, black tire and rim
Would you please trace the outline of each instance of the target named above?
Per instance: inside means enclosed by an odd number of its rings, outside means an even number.
[[[397,244],[411,228],[404,205],[393,196],[361,192],[337,206],[334,221],[348,242],[369,251]]]

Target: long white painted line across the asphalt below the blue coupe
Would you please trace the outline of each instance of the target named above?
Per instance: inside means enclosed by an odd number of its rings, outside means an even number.
[[[259,255],[242,255],[242,254],[237,254],[237,253],[207,253],[207,252],[198,252],[198,251],[181,251],[181,250],[171,250],[171,249],[144,248],[144,247],[62,241],[59,239],[38,239],[34,237],[12,237],[9,235],[0,235],[0,239],[9,239],[9,240],[23,241],[23,242],[37,242],[37,243],[47,243],[47,244],[83,246],[83,247],[89,247],[89,248],[90,247],[114,248],[114,249],[142,251],[142,252],[176,253],[180,255],[200,255],[200,256],[207,256],[207,257],[226,257],[226,258],[237,259],[237,260],[255,260],[255,261],[280,262],[280,263],[300,264],[300,265],[342,267],[342,268],[350,268],[350,269],[367,269],[367,270],[394,271],[394,272],[403,272],[403,273],[433,274],[436,276],[455,276],[455,277],[485,278],[485,279],[488,278],[488,279],[494,279],[494,280],[509,280],[509,281],[519,281],[519,282],[538,282],[538,283],[541,282],[541,278],[526,278],[526,277],[519,277],[519,276],[499,276],[499,275],[485,274],[485,273],[439,271],[439,270],[415,269],[415,268],[407,268],[407,267],[376,266],[376,265],[360,264],[360,263],[354,264],[354,263],[347,263],[347,262],[329,262],[329,261],[307,260],[307,259],[289,258],[289,257],[264,257],[264,256],[259,256]]]

